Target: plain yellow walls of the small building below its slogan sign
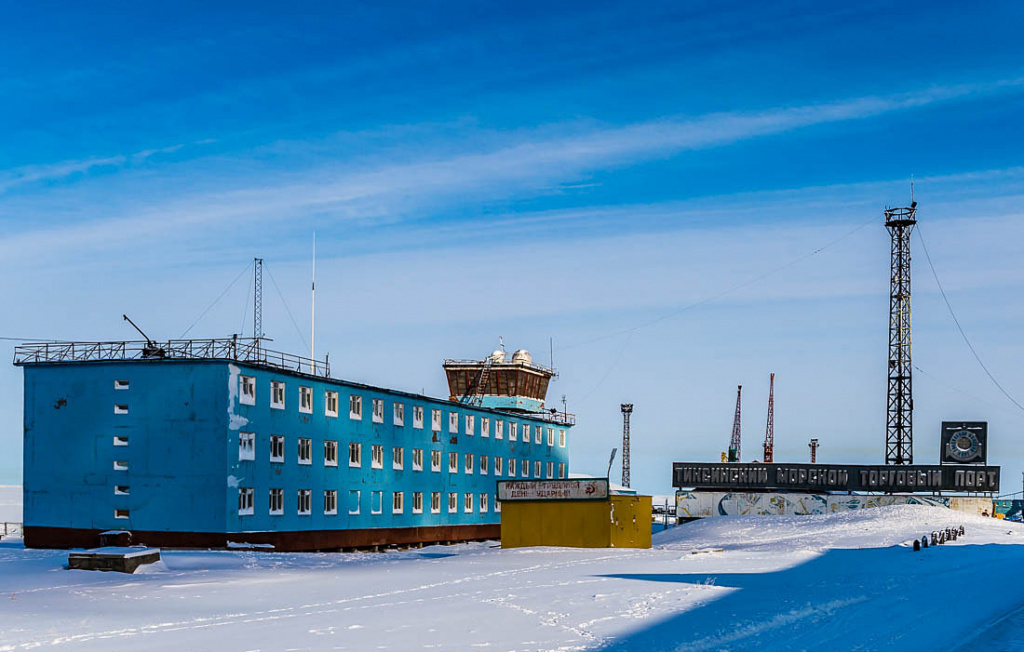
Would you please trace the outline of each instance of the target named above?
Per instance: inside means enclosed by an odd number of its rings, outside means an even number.
[[[502,548],[650,548],[650,496],[604,501],[506,501]]]

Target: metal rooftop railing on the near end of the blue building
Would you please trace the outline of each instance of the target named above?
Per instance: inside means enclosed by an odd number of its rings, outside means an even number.
[[[260,338],[168,340],[167,342],[34,342],[14,347],[14,364],[105,360],[238,360],[288,372],[331,377],[327,360],[272,351]]]

